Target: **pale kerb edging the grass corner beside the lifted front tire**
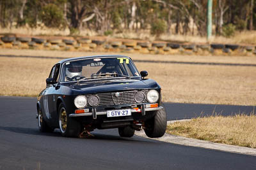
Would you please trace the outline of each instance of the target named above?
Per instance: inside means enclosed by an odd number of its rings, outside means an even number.
[[[168,121],[167,124],[173,124],[174,122],[184,122],[189,121],[189,119],[184,120],[172,120]],[[143,138],[148,138],[144,131],[135,131],[137,136],[141,136]],[[152,138],[148,138],[152,139]],[[256,156],[256,148],[246,148],[242,146],[234,146],[234,145],[227,145],[222,143],[213,143],[211,141],[203,141],[199,139],[192,139],[192,138],[185,138],[182,136],[175,136],[172,134],[165,133],[161,138],[154,138],[158,141],[164,141],[168,143],[175,143],[178,145],[186,145],[186,146],[195,146],[200,148],[207,148],[211,150],[221,150],[224,152],[232,152],[232,153],[241,153],[245,155],[254,155]]]

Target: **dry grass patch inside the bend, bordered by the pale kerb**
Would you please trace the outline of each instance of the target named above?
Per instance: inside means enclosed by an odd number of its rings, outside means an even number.
[[[256,148],[256,115],[212,116],[168,125],[166,132],[215,143]]]

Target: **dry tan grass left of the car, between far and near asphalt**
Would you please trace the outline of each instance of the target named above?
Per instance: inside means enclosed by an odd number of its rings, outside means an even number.
[[[38,96],[56,62],[58,60],[1,57],[0,95]]]

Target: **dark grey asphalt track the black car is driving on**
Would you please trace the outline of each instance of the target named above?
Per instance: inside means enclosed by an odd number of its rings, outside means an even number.
[[[164,103],[168,120],[212,110],[223,115],[253,106]],[[38,132],[35,97],[0,97],[0,170],[3,169],[256,169],[256,157],[164,143],[139,136],[120,138],[116,129],[94,138],[63,138]],[[200,114],[199,114],[200,115]]]

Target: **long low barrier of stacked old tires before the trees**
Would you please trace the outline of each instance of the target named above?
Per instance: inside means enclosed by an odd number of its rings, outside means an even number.
[[[127,52],[181,55],[256,55],[253,45],[236,44],[179,44],[167,42],[136,41],[133,39],[90,39],[70,37],[15,37],[1,36],[0,48],[68,50],[81,52]]]

